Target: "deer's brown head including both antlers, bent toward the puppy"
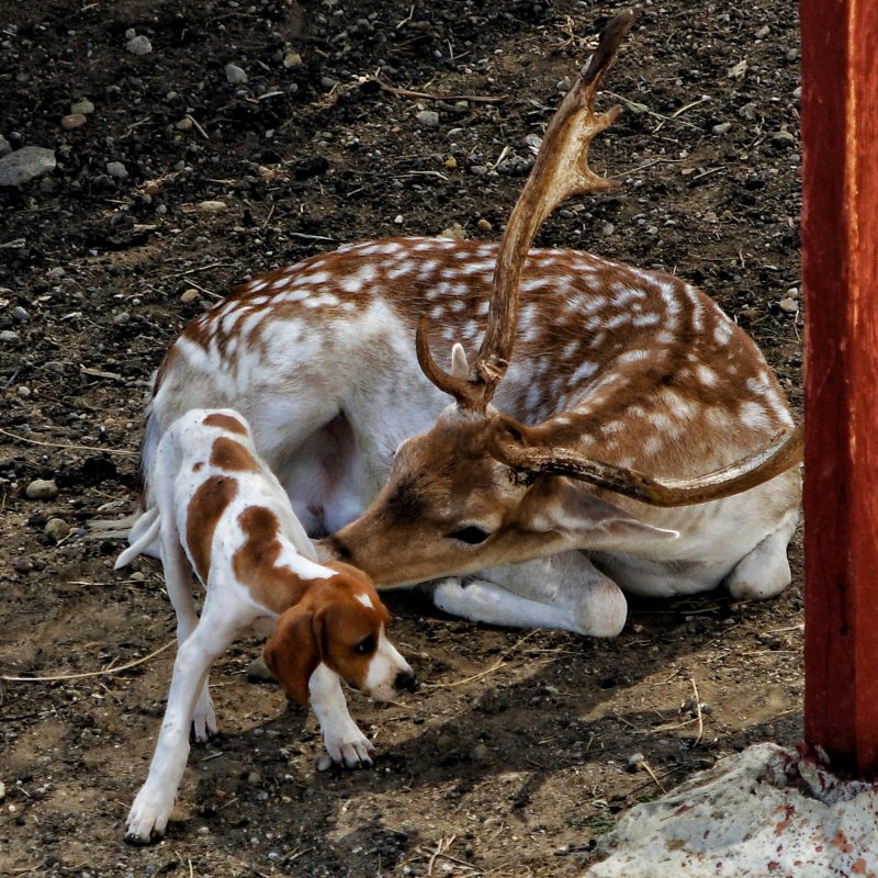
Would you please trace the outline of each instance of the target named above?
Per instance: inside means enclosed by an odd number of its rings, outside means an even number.
[[[589,460],[575,441],[565,446],[551,425],[526,426],[491,405],[511,359],[519,282],[537,232],[567,196],[617,185],[593,173],[587,157],[592,139],[619,114],[618,106],[596,114],[595,94],[635,16],[629,10],[607,24],[547,130],[500,244],[487,329],[473,362],[455,345],[450,371],[441,369],[430,352],[428,320],[420,319],[420,368],[454,402],[429,431],[399,447],[390,480],[369,509],[323,542],[324,552],[362,567],[385,586],[570,549],[626,551],[672,540],[674,530],[641,521],[584,486],[654,506],[680,506],[747,491],[801,460],[797,430],[722,470],[662,481]],[[571,435],[566,429],[567,440]]]

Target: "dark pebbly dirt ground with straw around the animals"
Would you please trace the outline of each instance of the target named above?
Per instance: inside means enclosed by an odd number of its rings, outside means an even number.
[[[472,626],[397,593],[423,685],[387,707],[351,696],[373,770],[317,773],[313,717],[247,682],[244,642],[214,668],[222,733],[193,747],[167,837],[122,841],[173,651],[112,668],[173,620],[158,565],[113,573],[120,543],[87,522],[134,508],[151,370],[248,275],[454,224],[497,238],[526,136],[612,11],[0,0],[0,134],[57,159],[0,188],[0,673],[66,677],[0,683],[0,874],[573,876],[631,804],[752,742],[798,741],[797,548],[777,600],[634,603],[611,642]],[[600,99],[626,112],[594,150],[624,185],[539,241],[696,282],[798,407],[797,38],[779,0],[646,0]],[[27,497],[36,479],[57,496]]]

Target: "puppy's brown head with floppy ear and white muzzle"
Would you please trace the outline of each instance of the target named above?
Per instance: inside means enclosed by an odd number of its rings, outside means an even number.
[[[302,705],[320,662],[378,701],[412,689],[415,674],[387,639],[391,616],[372,581],[347,564],[326,566],[336,575],[314,579],[278,619],[263,649],[271,673]]]

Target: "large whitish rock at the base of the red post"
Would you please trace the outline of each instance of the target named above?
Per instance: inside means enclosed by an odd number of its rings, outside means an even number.
[[[632,808],[588,878],[878,875],[878,789],[776,744],[722,759]]]

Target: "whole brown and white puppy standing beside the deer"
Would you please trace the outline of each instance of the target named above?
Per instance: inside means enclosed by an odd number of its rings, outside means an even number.
[[[387,640],[390,614],[372,582],[347,564],[317,563],[239,414],[194,409],[175,421],[158,447],[153,489],[155,506],[115,566],[158,544],[179,649],[149,774],[126,821],[135,844],[165,832],[190,725],[196,741],[216,731],[207,674],[241,634],[271,632],[266,662],[297,701],[311,697],[329,756],[347,767],[371,764],[375,751],[350,718],[341,679],[381,701],[414,683]],[[192,571],[206,589],[201,618]]]

